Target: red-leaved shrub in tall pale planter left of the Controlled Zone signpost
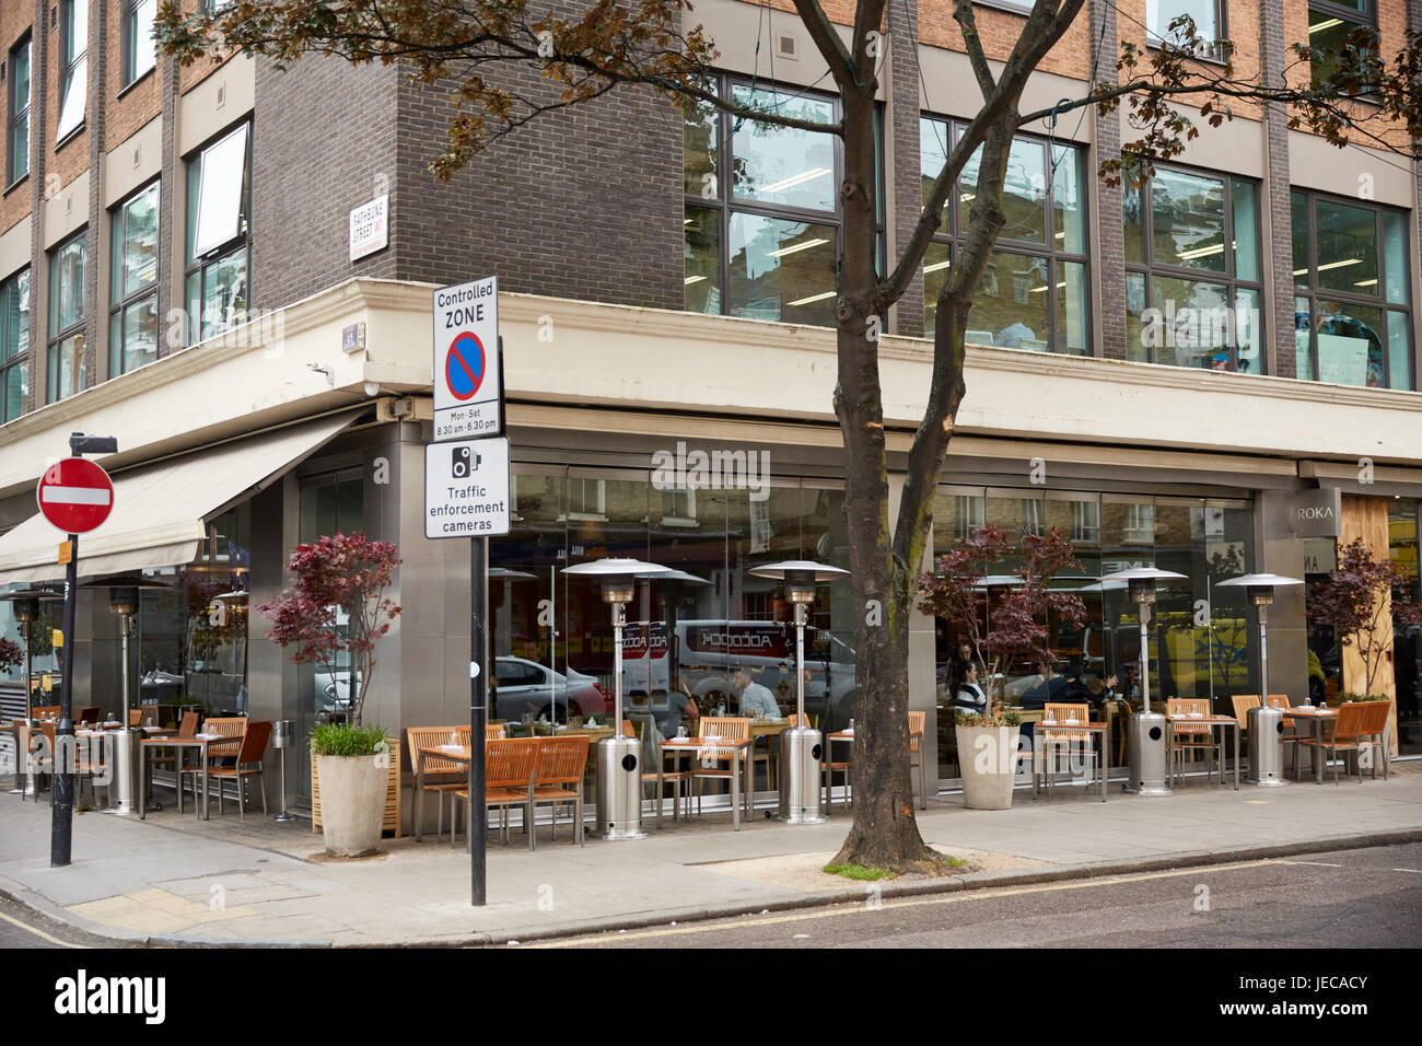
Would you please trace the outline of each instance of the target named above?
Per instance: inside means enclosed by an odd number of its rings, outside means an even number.
[[[336,679],[341,655],[350,662],[348,722],[324,723],[311,731],[326,852],[337,857],[380,848],[390,746],[381,727],[361,724],[361,713],[375,643],[401,609],[384,595],[398,565],[394,544],[337,532],[297,545],[287,562],[290,588],[257,608],[272,620],[267,639],[294,648],[292,660],[297,665],[320,665]]]

